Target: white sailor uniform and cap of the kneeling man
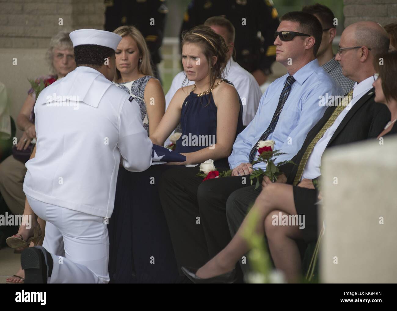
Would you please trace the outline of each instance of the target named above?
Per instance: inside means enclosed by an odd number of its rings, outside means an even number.
[[[70,39],[73,47],[96,44],[115,50],[121,37],[80,29]],[[152,142],[139,105],[102,73],[83,65],[46,87],[34,111],[37,151],[26,163],[23,191],[47,224],[43,247],[30,247],[21,255],[25,280],[45,261],[50,283],[107,283],[106,224],[120,159],[133,172],[151,165]],[[52,244],[46,240],[60,236],[65,257],[46,249]]]

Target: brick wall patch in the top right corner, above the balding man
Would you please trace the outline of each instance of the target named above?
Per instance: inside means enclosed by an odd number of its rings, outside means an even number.
[[[343,0],[345,27],[357,21],[397,23],[397,0]]]

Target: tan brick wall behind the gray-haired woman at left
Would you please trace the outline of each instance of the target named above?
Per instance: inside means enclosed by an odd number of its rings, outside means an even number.
[[[59,31],[103,29],[104,13],[103,0],[0,0],[0,81],[14,120],[30,88],[27,78],[48,74],[44,56],[51,37]]]

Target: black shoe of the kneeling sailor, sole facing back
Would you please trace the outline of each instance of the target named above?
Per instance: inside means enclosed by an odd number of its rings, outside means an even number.
[[[22,252],[21,267],[25,270],[25,284],[45,284],[51,276],[54,262],[44,247],[34,246]]]

